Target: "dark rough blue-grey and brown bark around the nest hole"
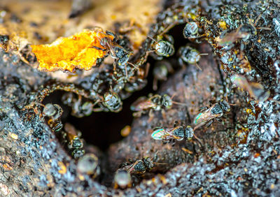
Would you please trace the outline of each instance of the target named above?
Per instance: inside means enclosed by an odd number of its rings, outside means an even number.
[[[157,24],[151,27],[151,36],[160,34],[160,27],[169,26],[169,16],[178,17],[173,21],[177,25],[186,22],[187,12],[198,13],[201,10],[197,20],[207,38],[200,44],[190,45],[209,55],[199,62],[202,71],[195,65],[185,66],[169,77],[159,91],[160,94],[175,94],[174,101],[186,105],[174,104],[172,109],[165,111],[165,116],[160,111],[153,112],[151,122],[148,115],[134,119],[130,135],[111,145],[106,154],[100,154],[104,172],[104,177],[100,177],[101,183],[77,171],[76,161],[64,150],[59,138],[41,116],[39,105],[35,103],[37,108],[26,108],[31,101],[36,101],[34,95],[41,91],[41,85],[49,82],[50,76],[22,61],[15,61],[14,55],[1,51],[0,194],[279,196],[280,106],[277,100],[280,92],[280,40],[277,35],[279,24],[273,22],[280,21],[279,4],[274,1],[207,2],[167,3],[165,10],[158,15]],[[260,20],[255,24],[258,34],[246,42],[237,41],[228,50],[236,55],[235,59],[223,60],[228,51],[217,45],[217,38],[223,31],[218,21],[226,21],[228,29],[234,30],[259,16]],[[176,43],[176,36],[174,39]],[[133,57],[135,64],[145,61],[150,44],[151,40],[147,38],[143,48]],[[248,70],[248,63],[251,70]],[[106,68],[112,70],[111,66],[104,66],[92,75],[78,79],[76,85],[90,92],[90,95],[103,95],[113,84],[111,75],[106,74],[111,70],[107,71]],[[235,73],[244,74],[248,80],[259,82],[269,89],[269,99],[258,102],[251,99],[248,93],[232,88],[229,77]],[[120,74],[120,78],[123,74]],[[117,84],[113,84],[114,87],[118,87]],[[118,93],[125,94],[125,91]],[[171,128],[175,121],[192,124],[200,107],[208,105],[210,100],[226,97],[235,105],[231,106],[223,122],[214,122],[209,128],[202,127],[195,131],[202,144],[194,139],[178,142],[172,147],[151,138],[154,127]],[[139,179],[135,187],[112,189],[110,185],[118,165],[130,158],[141,159],[143,156],[153,158],[153,170],[146,173],[143,180]]]

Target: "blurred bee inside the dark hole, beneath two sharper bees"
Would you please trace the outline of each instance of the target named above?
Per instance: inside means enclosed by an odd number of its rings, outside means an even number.
[[[167,80],[168,73],[174,70],[168,61],[158,61],[153,68],[153,90],[158,89],[158,81]]]

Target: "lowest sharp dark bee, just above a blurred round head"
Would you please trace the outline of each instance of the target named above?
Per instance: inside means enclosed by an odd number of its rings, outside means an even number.
[[[152,159],[148,156],[145,156],[142,159],[130,163],[121,163],[120,168],[127,170],[130,175],[143,175],[146,173],[146,170],[151,170],[154,166]]]

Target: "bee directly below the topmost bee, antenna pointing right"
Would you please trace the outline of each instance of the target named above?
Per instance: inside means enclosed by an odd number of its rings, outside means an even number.
[[[200,66],[198,66],[197,62],[200,61],[200,57],[202,55],[207,55],[208,53],[200,53],[195,48],[191,48],[190,46],[186,45],[185,47],[179,48],[179,64],[183,65],[183,61],[188,64],[195,64],[197,68],[202,70]]]

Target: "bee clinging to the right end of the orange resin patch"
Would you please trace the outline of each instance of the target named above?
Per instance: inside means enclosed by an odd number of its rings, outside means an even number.
[[[93,46],[92,48],[108,51],[111,57],[116,59],[118,66],[126,66],[132,52],[128,52],[122,46],[118,45],[118,36],[116,36],[116,34],[113,34],[113,32],[108,30],[106,31],[106,34],[104,34],[104,32],[101,30],[97,32],[97,38],[99,39],[99,43],[103,48],[96,46]],[[116,70],[116,61],[114,61],[113,64],[114,70]]]

